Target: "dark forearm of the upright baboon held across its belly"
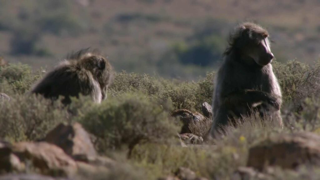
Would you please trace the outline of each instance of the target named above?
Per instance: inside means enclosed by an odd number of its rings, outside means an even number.
[[[263,91],[246,89],[246,90],[230,93],[223,100],[223,103],[226,106],[237,106],[237,105],[252,106],[254,103],[263,103],[263,102],[267,102],[268,104],[276,108],[276,110],[280,110],[280,104],[279,102],[277,102],[276,98]]]

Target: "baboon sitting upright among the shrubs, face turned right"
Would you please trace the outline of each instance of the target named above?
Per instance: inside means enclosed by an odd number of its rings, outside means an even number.
[[[282,126],[282,96],[270,64],[274,56],[268,32],[250,22],[238,25],[223,55],[215,80],[211,135],[254,111]]]

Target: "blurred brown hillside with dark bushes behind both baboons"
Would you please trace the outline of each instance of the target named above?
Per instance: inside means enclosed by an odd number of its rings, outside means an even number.
[[[266,27],[277,61],[319,59],[317,0],[0,1],[0,56],[51,69],[72,51],[98,48],[116,71],[193,80],[217,69],[229,31]]]

